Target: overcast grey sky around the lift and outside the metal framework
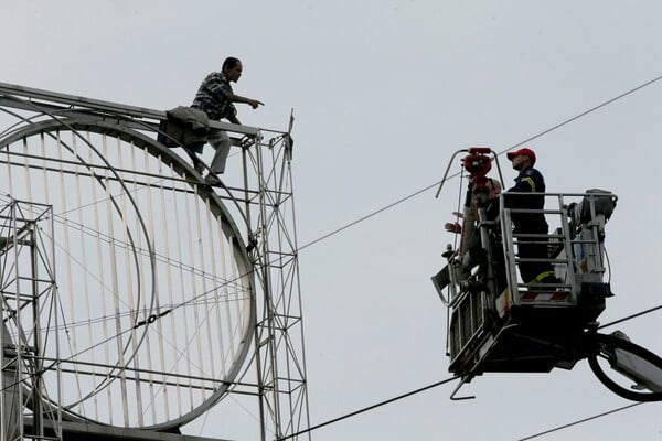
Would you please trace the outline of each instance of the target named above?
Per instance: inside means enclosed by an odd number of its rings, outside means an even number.
[[[659,1],[4,1],[1,82],[156,109],[190,104],[227,55],[244,123],[297,118],[300,245],[438,181],[451,154],[505,150],[662,75]],[[551,192],[619,195],[607,225],[602,322],[662,303],[662,82],[528,147]],[[238,166],[231,158],[228,168]],[[514,173],[502,162],[508,180]],[[458,183],[425,192],[300,255],[313,424],[449,377],[446,310],[429,282]],[[660,313],[619,326],[662,354]],[[629,402],[580,363],[484,375],[313,432],[327,440],[515,440]],[[659,440],[659,404],[544,440]],[[225,435],[224,413],[195,433]],[[255,422],[257,424],[257,422]]]

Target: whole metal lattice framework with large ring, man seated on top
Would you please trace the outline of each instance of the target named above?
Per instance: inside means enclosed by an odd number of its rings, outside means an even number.
[[[61,320],[17,351],[13,364],[42,373],[42,386],[14,390],[33,394],[32,411],[43,402],[40,415],[62,412],[61,423],[35,415],[30,426],[4,394],[3,427],[174,440],[229,395],[254,397],[263,440],[309,427],[291,118],[288,131],[210,122],[241,152],[224,179],[233,186],[220,187],[172,147],[167,121],[164,111],[0,83],[0,202],[51,207],[57,271],[46,272]]]

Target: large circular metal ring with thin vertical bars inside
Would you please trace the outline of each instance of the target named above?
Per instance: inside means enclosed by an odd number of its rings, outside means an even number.
[[[0,152],[2,190],[52,204],[61,229],[60,354],[53,338],[43,351],[50,405],[72,420],[168,429],[220,400],[248,354],[256,308],[253,265],[218,195],[146,132],[100,117],[26,125]],[[56,376],[64,397],[54,398]]]

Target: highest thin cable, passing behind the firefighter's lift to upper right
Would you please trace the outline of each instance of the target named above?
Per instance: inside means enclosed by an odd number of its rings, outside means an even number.
[[[621,98],[624,98],[624,97],[627,97],[628,95],[631,95],[631,94],[633,94],[633,93],[636,93],[636,92],[638,92],[638,90],[641,90],[642,88],[644,88],[644,87],[647,87],[647,86],[650,86],[651,84],[653,84],[653,83],[655,83],[655,82],[659,82],[660,79],[662,79],[662,75],[660,75],[660,76],[658,76],[658,77],[655,77],[655,78],[653,78],[653,79],[651,79],[651,80],[648,80],[648,82],[645,82],[645,83],[643,83],[643,84],[640,84],[639,86],[637,86],[637,87],[634,87],[634,88],[631,88],[631,89],[629,89],[629,90],[627,90],[627,92],[623,92],[622,94],[620,94],[620,95],[617,95],[617,96],[616,96],[616,97],[613,97],[613,98],[610,98],[610,99],[608,99],[608,100],[606,100],[606,101],[602,101],[602,103],[600,103],[599,105],[597,105],[597,106],[595,106],[595,107],[591,107],[591,108],[589,108],[588,110],[585,110],[585,111],[583,111],[583,112],[580,112],[580,114],[578,114],[578,115],[576,115],[576,116],[574,116],[574,117],[572,117],[572,118],[568,118],[568,119],[566,119],[566,120],[564,120],[564,121],[562,121],[562,122],[559,122],[559,123],[557,123],[557,125],[555,125],[555,126],[553,126],[553,127],[551,127],[551,128],[546,129],[546,130],[543,130],[543,131],[541,131],[540,133],[536,133],[536,135],[534,135],[534,136],[532,136],[532,137],[530,137],[530,138],[526,138],[525,140],[517,142],[516,144],[513,144],[513,146],[511,146],[511,147],[509,147],[509,148],[506,148],[506,149],[504,149],[504,150],[501,150],[499,153],[496,153],[496,155],[501,155],[501,154],[503,154],[504,152],[506,152],[506,151],[509,151],[509,150],[511,150],[511,149],[514,149],[514,148],[516,148],[516,147],[520,147],[520,146],[522,146],[522,144],[524,144],[524,143],[526,143],[526,142],[531,142],[531,141],[535,140],[535,139],[538,139],[538,138],[541,138],[541,137],[543,137],[543,136],[545,136],[545,135],[547,135],[547,133],[549,133],[549,132],[552,132],[552,131],[554,131],[554,130],[556,130],[556,129],[559,129],[559,128],[562,128],[562,127],[564,127],[564,126],[566,126],[566,125],[568,125],[568,123],[570,123],[570,122],[573,122],[573,121],[576,121],[576,120],[577,120],[577,119],[579,119],[579,118],[583,118],[583,117],[585,117],[585,116],[587,116],[587,115],[589,115],[589,114],[592,114],[594,111],[596,111],[596,110],[599,110],[599,109],[601,109],[602,107],[606,107],[606,106],[608,106],[608,105],[610,105],[610,104],[612,104],[612,103],[615,103],[615,101],[618,101],[619,99],[621,99]],[[414,197],[414,196],[418,196],[419,194],[421,194],[421,193],[425,193],[425,192],[427,192],[428,190],[430,190],[430,189],[433,189],[433,187],[436,187],[436,186],[438,186],[438,185],[439,185],[439,184],[441,184],[442,182],[446,182],[446,181],[450,180],[451,178],[455,178],[455,176],[457,176],[458,174],[459,174],[459,173],[456,173],[456,174],[452,174],[452,175],[448,176],[446,180],[437,181],[437,182],[435,182],[434,184],[430,184],[430,185],[428,185],[428,186],[426,186],[426,187],[424,187],[424,189],[420,189],[420,190],[418,190],[418,191],[416,191],[416,192],[414,192],[414,193],[409,194],[408,196],[405,196],[405,197],[403,197],[403,198],[401,198],[401,200],[397,200],[397,201],[395,201],[394,203],[391,203],[391,204],[388,204],[388,205],[386,205],[386,206],[384,206],[384,207],[382,207],[382,208],[378,208],[378,209],[376,209],[376,211],[374,211],[374,212],[372,212],[372,213],[370,213],[370,214],[367,214],[367,215],[365,215],[365,216],[363,216],[363,217],[361,217],[361,218],[359,218],[359,219],[356,219],[356,220],[353,220],[353,222],[351,222],[351,223],[349,223],[349,224],[345,224],[345,225],[343,225],[342,227],[340,227],[340,228],[338,228],[338,229],[334,229],[333,232],[331,232],[331,233],[328,233],[328,234],[325,234],[325,235],[321,236],[320,238],[317,238],[317,239],[314,239],[314,240],[312,240],[312,241],[309,241],[308,244],[306,244],[306,245],[303,245],[303,246],[299,247],[299,250],[302,250],[302,249],[305,249],[305,248],[308,248],[308,247],[309,247],[309,246],[311,246],[311,245],[314,245],[314,244],[317,244],[317,243],[319,243],[319,241],[322,241],[322,240],[324,240],[324,239],[327,239],[327,238],[329,238],[329,237],[331,237],[331,236],[334,236],[334,235],[337,235],[337,234],[339,234],[339,233],[341,233],[341,232],[343,232],[343,230],[345,230],[345,229],[348,229],[348,228],[350,228],[350,227],[353,227],[353,226],[354,226],[354,225],[356,225],[356,224],[360,224],[360,223],[362,223],[363,220],[367,220],[369,218],[371,218],[371,217],[373,217],[373,216],[375,216],[375,215],[377,215],[377,214],[380,214],[380,213],[382,213],[382,212],[385,212],[386,209],[393,208],[394,206],[396,206],[396,205],[399,205],[401,203],[403,203],[403,202],[405,202],[405,201],[408,201],[408,200],[410,200],[410,198],[412,198],[412,197]]]

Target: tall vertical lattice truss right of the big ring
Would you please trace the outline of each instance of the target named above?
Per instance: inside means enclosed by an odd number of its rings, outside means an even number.
[[[290,117],[290,130],[293,117]],[[308,396],[303,349],[303,324],[299,284],[295,201],[290,162],[292,139],[287,133],[268,133],[261,148],[244,150],[245,186],[256,187],[246,212],[254,228],[256,276],[264,299],[258,316],[256,347],[263,390],[263,439],[291,437],[308,428]],[[250,182],[248,176],[258,180]],[[248,200],[247,200],[248,201]],[[308,435],[309,437],[309,435]]]

